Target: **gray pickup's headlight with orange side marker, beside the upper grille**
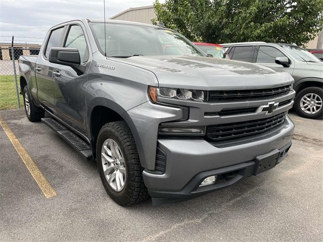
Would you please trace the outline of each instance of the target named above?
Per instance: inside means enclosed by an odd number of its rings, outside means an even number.
[[[150,100],[157,102],[158,97],[176,98],[179,100],[205,101],[206,92],[201,90],[168,88],[168,87],[149,87],[148,93]]]

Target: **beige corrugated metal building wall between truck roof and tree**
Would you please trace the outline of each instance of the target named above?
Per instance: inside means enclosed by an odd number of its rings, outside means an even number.
[[[120,14],[111,17],[110,19],[151,24],[151,20],[153,18],[156,18],[156,14],[153,6],[151,5],[127,9]]]

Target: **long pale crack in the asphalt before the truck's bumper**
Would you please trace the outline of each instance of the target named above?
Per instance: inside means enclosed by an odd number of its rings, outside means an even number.
[[[140,240],[141,242],[146,242],[146,241],[153,241],[153,240],[156,240],[157,238],[165,235],[165,234],[168,234],[170,232],[172,232],[174,229],[176,228],[179,228],[179,227],[185,227],[186,225],[189,225],[189,224],[196,224],[196,223],[202,223],[204,219],[210,217],[210,216],[213,216],[214,214],[218,214],[220,212],[223,212],[225,210],[227,210],[227,207],[228,206],[231,206],[233,205],[234,203],[240,201],[242,198],[244,197],[247,197],[249,194],[253,193],[255,190],[257,189],[260,189],[262,186],[259,186],[257,188],[253,188],[251,190],[249,190],[248,192],[242,194],[241,196],[239,197],[236,197],[234,198],[233,200],[231,200],[230,202],[226,203],[222,208],[220,209],[216,209],[216,210],[212,210],[212,211],[209,211],[207,213],[204,213],[204,214],[201,214],[200,218],[195,218],[195,219],[186,219],[184,220],[183,222],[180,222],[180,223],[176,223],[174,225],[172,225],[170,228],[168,229],[165,229],[163,231],[160,231],[159,233],[156,233],[154,235],[149,235],[147,237],[145,237],[143,240]]]

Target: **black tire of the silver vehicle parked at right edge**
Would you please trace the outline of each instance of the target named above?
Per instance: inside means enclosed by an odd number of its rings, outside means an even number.
[[[300,102],[301,102],[302,97],[304,97],[306,94],[310,94],[310,93],[314,93],[314,94],[318,95],[320,97],[320,101],[323,100],[323,89],[322,88],[320,88],[320,87],[305,88],[305,89],[301,90],[299,93],[297,93],[297,95],[296,95],[295,103],[294,103],[295,110],[302,117],[312,118],[312,119],[321,118],[323,116],[323,106],[321,106],[320,109],[318,109],[319,107],[316,106],[318,111],[313,114],[306,113],[301,108]],[[322,102],[320,102],[319,104],[322,105]]]

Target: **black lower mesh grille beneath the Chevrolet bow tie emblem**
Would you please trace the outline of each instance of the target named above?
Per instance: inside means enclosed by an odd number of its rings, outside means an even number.
[[[287,112],[283,112],[262,119],[208,126],[206,137],[212,141],[223,141],[263,133],[283,124],[286,114]]]

